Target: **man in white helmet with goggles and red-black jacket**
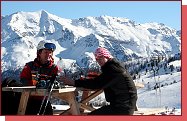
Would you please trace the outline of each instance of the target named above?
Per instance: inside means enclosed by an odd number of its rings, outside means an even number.
[[[58,72],[58,67],[54,64],[54,60],[52,58],[53,51],[56,49],[55,44],[48,43],[47,41],[40,41],[37,46],[37,57],[34,61],[28,62],[25,64],[21,74],[20,74],[20,81],[25,86],[38,86],[40,88],[42,85],[39,85],[39,80],[35,80],[34,77],[44,78],[44,80],[50,79],[52,76],[56,76]],[[30,96],[26,108],[25,115],[36,115],[39,112],[44,112],[44,115],[53,115],[53,109],[51,106],[50,101],[44,111],[45,105],[41,108],[40,106],[43,101],[43,96]],[[46,100],[45,100],[46,103]],[[44,104],[45,104],[44,103]]]

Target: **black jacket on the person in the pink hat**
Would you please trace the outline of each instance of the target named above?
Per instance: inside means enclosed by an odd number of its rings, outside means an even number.
[[[104,89],[106,101],[111,105],[134,109],[137,90],[127,70],[116,59],[107,61],[101,70],[102,74],[94,79],[75,80],[75,86]]]

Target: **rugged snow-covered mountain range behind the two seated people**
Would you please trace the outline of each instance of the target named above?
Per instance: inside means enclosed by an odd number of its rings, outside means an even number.
[[[98,46],[119,60],[171,56],[181,52],[180,30],[163,23],[137,24],[127,18],[99,16],[65,19],[45,10],[1,17],[2,72],[23,67],[36,57],[40,40],[54,42],[55,63],[63,59],[88,67]]]

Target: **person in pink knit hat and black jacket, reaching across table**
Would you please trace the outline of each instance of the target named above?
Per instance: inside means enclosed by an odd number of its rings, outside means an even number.
[[[72,81],[64,77],[64,84],[89,89],[103,89],[110,105],[89,115],[132,115],[136,109],[137,90],[127,70],[105,48],[95,51],[102,73],[93,79]]]

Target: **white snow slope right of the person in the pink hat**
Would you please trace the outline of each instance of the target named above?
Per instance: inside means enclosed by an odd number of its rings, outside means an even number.
[[[170,62],[175,67],[181,66],[181,61]],[[138,90],[138,107],[144,108],[181,108],[181,72],[164,72],[160,69],[159,75],[142,76],[141,79],[135,80],[144,83],[145,87]],[[165,74],[167,73],[167,74]],[[153,89],[158,83],[161,87]]]

